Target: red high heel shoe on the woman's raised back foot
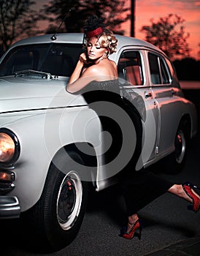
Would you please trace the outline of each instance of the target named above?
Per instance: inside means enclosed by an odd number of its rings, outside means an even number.
[[[193,200],[193,204],[191,206],[188,206],[188,210],[192,210],[194,212],[199,211],[200,198],[192,192],[192,189],[199,189],[199,187],[196,187],[195,185],[191,184],[191,182],[187,181],[185,182],[185,184],[182,184],[182,188],[184,189],[188,197],[191,197],[191,199]]]

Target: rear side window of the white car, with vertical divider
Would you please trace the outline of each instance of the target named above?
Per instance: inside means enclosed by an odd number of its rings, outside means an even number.
[[[150,78],[153,84],[168,84],[170,83],[169,71],[167,64],[161,56],[153,53],[148,53],[150,65]]]

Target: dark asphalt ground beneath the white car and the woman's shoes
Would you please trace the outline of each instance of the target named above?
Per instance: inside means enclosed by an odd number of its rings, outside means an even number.
[[[185,95],[193,99],[199,108],[200,91],[198,93],[185,91]],[[199,143],[198,134],[189,145],[188,157],[182,173],[173,176],[160,175],[176,183],[191,181],[200,187]],[[177,241],[200,234],[200,212],[195,214],[193,211],[188,211],[187,205],[185,200],[174,195],[169,193],[162,195],[139,211],[143,221],[141,241],[138,238],[128,241],[118,236],[120,227],[126,221],[123,198],[118,187],[111,187],[99,193],[91,193],[80,232],[66,248],[52,254],[36,252],[24,244],[23,236],[20,236],[15,225],[12,228],[9,225],[9,230],[1,240],[0,255],[147,255]],[[32,239],[31,244],[34,245],[34,238],[30,236],[30,239]]]

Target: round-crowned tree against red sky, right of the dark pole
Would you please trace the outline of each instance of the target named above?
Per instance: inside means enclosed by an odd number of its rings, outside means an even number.
[[[184,19],[179,15],[169,14],[158,21],[150,20],[150,26],[142,26],[141,31],[146,33],[147,42],[158,46],[167,56],[190,56],[188,47],[189,34],[185,32]]]

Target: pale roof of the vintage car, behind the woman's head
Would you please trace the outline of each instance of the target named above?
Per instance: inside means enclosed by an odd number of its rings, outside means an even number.
[[[52,39],[53,36],[55,36],[55,39]],[[139,48],[150,48],[152,50],[156,50],[160,53],[163,53],[162,50],[157,48],[155,45],[152,45],[149,42],[146,42],[145,40],[137,39],[135,37],[126,37],[126,36],[122,36],[122,35],[118,35],[118,34],[115,34],[115,37],[117,37],[117,39],[118,39],[118,49],[123,48],[125,46],[132,45],[132,46],[137,46]],[[21,39],[20,41],[15,42],[11,48],[18,46],[18,45],[49,43],[49,42],[81,44],[82,41],[83,41],[82,33],[45,34],[45,35],[41,35],[41,36]]]

